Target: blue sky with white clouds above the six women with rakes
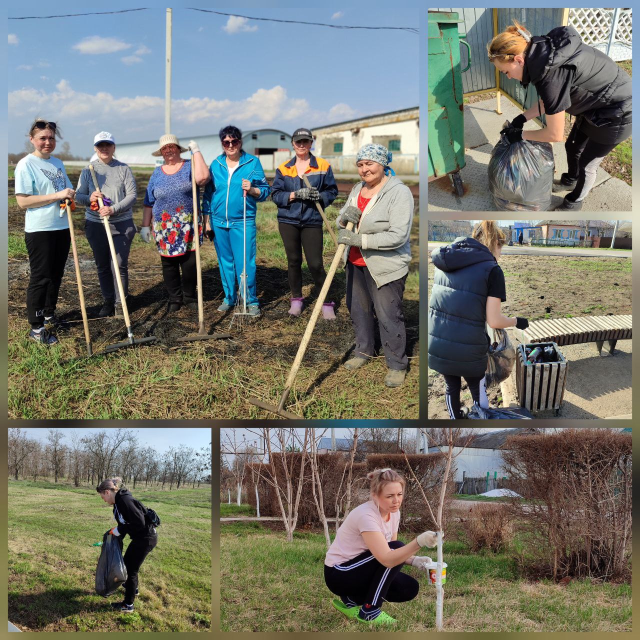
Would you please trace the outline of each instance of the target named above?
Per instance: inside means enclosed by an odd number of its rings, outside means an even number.
[[[13,4],[8,17],[120,8],[34,6]],[[287,9],[220,10],[336,25],[418,27],[417,8],[359,7],[314,10],[296,3]],[[8,20],[9,150],[24,148],[35,116],[58,122],[63,141],[77,155],[90,155],[94,134],[103,130],[116,143],[159,138],[164,33],[164,8]],[[407,31],[259,22],[173,4],[172,132],[188,141],[229,122],[246,131],[292,132],[417,106],[418,50],[419,36]]]

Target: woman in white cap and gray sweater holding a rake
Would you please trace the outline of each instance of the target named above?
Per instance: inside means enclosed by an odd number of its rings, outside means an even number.
[[[109,218],[122,287],[127,296],[129,294],[129,250],[136,235],[136,225],[133,223],[133,205],[137,195],[136,180],[129,165],[113,157],[116,145],[108,131],[100,131],[95,136],[93,148],[97,159],[93,160],[92,164],[100,190],[95,190],[89,168],[83,169],[76,190],[76,202],[86,207],[84,232],[93,250],[93,258],[98,268],[100,291],[104,298],[98,317],[114,314],[122,316],[122,300],[120,300],[102,220],[105,217]],[[103,207],[98,203],[98,196],[103,198]]]

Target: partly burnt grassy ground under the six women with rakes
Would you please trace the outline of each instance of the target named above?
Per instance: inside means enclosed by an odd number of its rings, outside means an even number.
[[[68,171],[77,184],[79,168]],[[74,171],[76,173],[74,173]],[[148,172],[136,172],[138,203],[134,221],[141,223],[141,195]],[[12,193],[13,184],[10,184]],[[328,207],[335,220],[338,200]],[[182,308],[167,316],[168,300],[154,244],[134,238],[129,257],[129,313],[136,337],[156,335],[154,346],[121,350],[92,360],[63,360],[86,355],[72,256],[60,289],[58,315],[70,322],[59,332],[60,345],[42,348],[28,338],[25,289],[28,260],[22,224],[24,212],[9,207],[9,389],[8,414],[16,419],[260,419],[271,417],[247,401],[254,396],[278,404],[311,314],[312,305],[293,318],[289,309],[287,258],[278,224],[276,206],[259,204],[257,212],[257,284],[262,316],[247,326],[234,323],[230,315],[217,311],[223,294],[216,253],[211,243],[202,248],[204,317],[207,333],[229,332],[228,340],[184,343],[175,339],[197,332],[197,314]],[[353,327],[346,307],[344,271],[335,276],[332,297],[337,321],[322,318],[302,362],[287,403],[287,410],[316,419],[417,419],[419,415],[419,221],[412,229],[413,262],[404,291],[404,316],[410,368],[403,387],[388,389],[384,357],[379,355],[358,372],[342,363],[354,344]],[[84,237],[83,215],[74,216],[78,251],[93,351],[125,339],[124,323],[115,318],[96,319],[102,304],[91,249]],[[332,240],[324,234],[324,263],[333,258]],[[313,300],[313,285],[303,265],[303,294]]]

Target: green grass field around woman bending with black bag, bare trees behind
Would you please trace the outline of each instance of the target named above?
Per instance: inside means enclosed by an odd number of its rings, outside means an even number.
[[[95,566],[111,507],[94,486],[13,481],[8,490],[9,620],[23,631],[168,631],[211,628],[211,487],[133,495],[162,520],[156,548],[143,563],[131,613],[122,600],[95,593]],[[125,551],[129,536],[124,540]]]

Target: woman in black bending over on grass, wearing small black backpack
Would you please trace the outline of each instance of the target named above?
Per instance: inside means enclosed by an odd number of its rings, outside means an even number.
[[[117,611],[133,611],[133,601],[138,595],[138,571],[145,558],[157,545],[156,527],[147,523],[146,509],[128,489],[122,486],[121,477],[103,480],[96,491],[104,502],[113,504],[113,517],[118,525],[109,529],[108,533],[118,538],[121,549],[124,536],[128,533],[131,538],[124,554],[124,564],[127,567],[124,600],[112,602],[111,606]]]

